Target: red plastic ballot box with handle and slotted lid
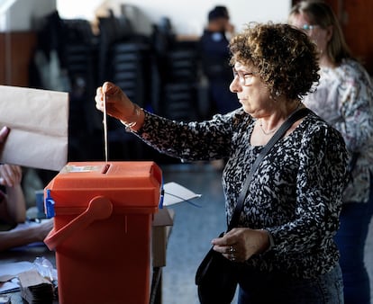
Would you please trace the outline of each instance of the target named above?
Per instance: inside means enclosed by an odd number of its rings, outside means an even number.
[[[77,162],[44,188],[59,303],[149,303],[161,175],[153,162]]]

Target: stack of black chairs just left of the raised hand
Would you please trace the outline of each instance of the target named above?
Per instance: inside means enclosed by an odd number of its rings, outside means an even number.
[[[68,72],[71,161],[102,159],[102,118],[96,111],[97,40],[86,20],[63,20],[63,66]]]

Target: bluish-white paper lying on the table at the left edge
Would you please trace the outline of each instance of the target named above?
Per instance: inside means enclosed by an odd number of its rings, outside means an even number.
[[[27,272],[34,269],[35,266],[31,262],[15,262],[0,264],[0,294],[6,292],[14,292],[20,290],[19,280],[16,277],[18,273]],[[14,277],[12,280],[8,280],[5,276]],[[2,278],[3,277],[3,278]]]

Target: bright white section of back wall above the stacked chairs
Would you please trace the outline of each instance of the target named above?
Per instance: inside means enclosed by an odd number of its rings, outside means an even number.
[[[285,22],[291,0],[57,0],[61,18],[93,20],[96,9],[102,4],[115,6],[131,4],[138,7],[150,22],[158,23],[167,16],[177,34],[199,35],[206,23],[207,13],[216,4],[228,7],[231,21],[240,31],[247,22]]]

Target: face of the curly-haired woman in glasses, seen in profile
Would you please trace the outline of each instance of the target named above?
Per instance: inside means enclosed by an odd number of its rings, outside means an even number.
[[[274,103],[267,86],[255,72],[254,67],[246,67],[236,62],[233,67],[234,78],[230,90],[237,94],[245,112],[252,117],[260,118],[270,112]]]

